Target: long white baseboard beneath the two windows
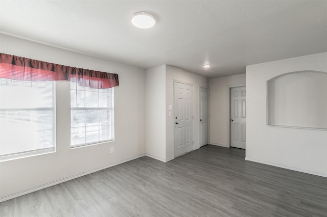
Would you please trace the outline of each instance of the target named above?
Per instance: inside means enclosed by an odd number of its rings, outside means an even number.
[[[119,165],[119,164],[123,164],[124,162],[130,161],[130,160],[134,160],[136,158],[143,157],[143,156],[145,156],[145,154],[137,155],[135,157],[127,158],[125,160],[116,162],[116,163],[111,164],[109,166],[97,168],[95,170],[83,172],[83,173],[80,173],[80,174],[77,174],[77,175],[74,175],[74,176],[69,176],[67,178],[59,179],[57,181],[53,181],[53,182],[50,182],[50,183],[47,183],[47,184],[43,184],[43,185],[40,185],[40,186],[37,186],[37,187],[33,187],[33,188],[27,189],[27,190],[22,191],[22,192],[18,192],[18,193],[12,194],[12,195],[8,195],[8,196],[5,196],[5,197],[0,198],[0,203],[1,202],[4,202],[6,200],[10,200],[10,199],[16,198],[16,197],[20,197],[22,195],[26,195],[26,194],[29,194],[29,193],[32,193],[32,192],[39,191],[40,189],[43,189],[43,188],[46,188],[46,187],[50,187],[50,186],[53,186],[53,185],[56,185],[56,184],[60,184],[60,183],[65,182],[65,181],[69,181],[69,180],[76,179],[76,178],[79,178],[81,176],[85,176],[85,175],[88,175],[88,174],[91,174],[91,173],[94,173],[94,172],[97,172],[97,171],[100,171],[100,170],[104,170],[104,169],[107,169],[109,167],[113,167],[113,166],[116,166],[116,165]]]

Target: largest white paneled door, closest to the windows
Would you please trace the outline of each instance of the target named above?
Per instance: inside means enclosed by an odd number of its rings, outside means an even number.
[[[193,150],[193,86],[175,82],[175,156]]]

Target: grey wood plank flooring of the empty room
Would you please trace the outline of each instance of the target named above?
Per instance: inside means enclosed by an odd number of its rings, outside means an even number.
[[[141,157],[0,203],[0,216],[327,216],[327,178],[207,145]]]

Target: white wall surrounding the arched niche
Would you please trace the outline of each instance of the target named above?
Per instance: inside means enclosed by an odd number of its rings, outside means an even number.
[[[327,72],[327,52],[246,67],[246,159],[327,177],[326,130],[266,125],[267,80],[302,70]]]

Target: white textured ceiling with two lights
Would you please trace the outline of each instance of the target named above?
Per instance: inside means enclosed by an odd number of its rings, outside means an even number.
[[[157,18],[148,30],[130,17]],[[0,31],[91,56],[206,77],[327,51],[327,1],[7,1]],[[202,68],[212,64],[209,69]]]

